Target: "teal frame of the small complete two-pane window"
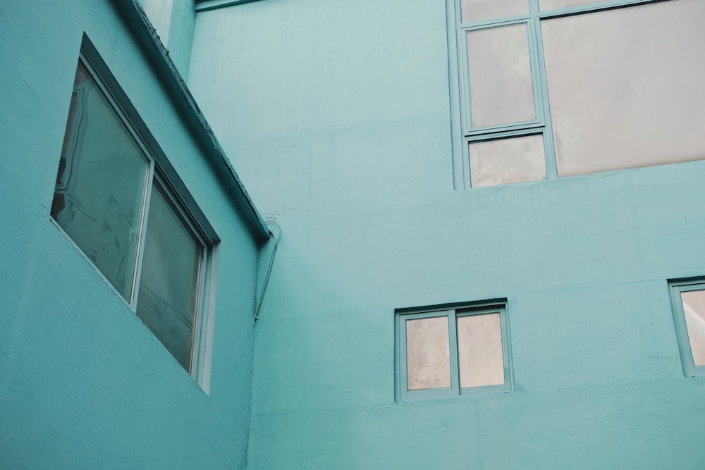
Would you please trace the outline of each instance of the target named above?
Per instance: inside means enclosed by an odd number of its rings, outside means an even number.
[[[462,316],[499,314],[502,338],[502,359],[504,364],[504,383],[479,387],[460,387],[460,366],[458,364],[457,319]],[[407,355],[406,355],[406,321],[415,319],[448,318],[448,347],[450,350],[450,387],[426,390],[407,390]],[[509,319],[507,299],[491,299],[482,302],[460,304],[443,304],[429,307],[412,307],[395,311],[396,339],[396,402],[414,402],[417,400],[434,400],[437,398],[458,397],[460,395],[486,395],[508,393],[514,390],[514,372],[510,346]]]

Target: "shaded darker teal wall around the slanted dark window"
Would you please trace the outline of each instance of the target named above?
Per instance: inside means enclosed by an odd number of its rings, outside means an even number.
[[[5,4],[0,26],[0,468],[244,468],[257,243],[226,178],[110,2]],[[210,395],[49,216],[84,32],[221,237]]]

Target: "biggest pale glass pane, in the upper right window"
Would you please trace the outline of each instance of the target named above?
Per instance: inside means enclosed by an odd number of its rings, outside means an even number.
[[[560,176],[705,157],[705,1],[541,23]]]

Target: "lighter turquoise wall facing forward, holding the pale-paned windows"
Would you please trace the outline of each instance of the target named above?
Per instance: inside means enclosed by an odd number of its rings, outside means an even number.
[[[192,51],[283,228],[248,468],[703,468],[666,280],[705,274],[705,161],[454,191],[442,0],[207,11]],[[396,404],[394,309],[493,297],[515,391]]]

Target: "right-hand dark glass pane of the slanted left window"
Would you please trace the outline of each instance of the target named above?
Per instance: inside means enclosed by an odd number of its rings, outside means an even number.
[[[203,246],[159,185],[152,187],[137,316],[190,371]]]

